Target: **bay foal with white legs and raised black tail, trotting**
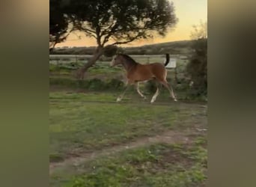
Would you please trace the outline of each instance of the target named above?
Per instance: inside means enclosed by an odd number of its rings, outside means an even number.
[[[127,71],[127,83],[125,85],[124,92],[118,96],[117,102],[120,102],[121,99],[124,97],[124,93],[127,91],[129,85],[135,85],[138,94],[146,99],[141,91],[139,90],[138,84],[139,82],[146,82],[149,80],[156,80],[156,93],[153,95],[150,103],[155,102],[156,96],[159,95],[159,85],[162,84],[165,88],[168,89],[170,96],[174,101],[177,101],[176,97],[174,96],[174,91],[171,88],[171,85],[168,84],[166,81],[167,70],[165,66],[169,63],[170,57],[169,54],[166,54],[165,64],[161,63],[152,63],[152,64],[139,64],[138,62],[134,61],[129,55],[125,54],[118,54],[116,55],[111,63],[111,67],[115,67],[118,64],[121,64],[124,69]]]

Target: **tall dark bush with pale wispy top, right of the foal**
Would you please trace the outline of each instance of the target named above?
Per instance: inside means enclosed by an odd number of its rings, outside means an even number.
[[[191,37],[193,54],[186,67],[195,94],[207,94],[207,22],[194,26]]]

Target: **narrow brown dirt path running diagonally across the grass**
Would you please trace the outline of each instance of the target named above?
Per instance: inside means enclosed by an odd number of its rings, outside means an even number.
[[[53,162],[49,165],[49,174],[52,174],[56,169],[61,169],[67,165],[79,165],[82,162],[88,162],[92,159],[95,159],[99,156],[108,156],[113,153],[118,153],[123,150],[132,149],[136,147],[142,147],[144,145],[156,144],[156,143],[168,143],[168,144],[177,144],[177,143],[189,143],[192,141],[193,135],[202,134],[206,129],[191,129],[186,130],[186,132],[176,132],[168,131],[160,135],[147,138],[138,138],[135,141],[129,142],[127,144],[121,144],[114,147],[109,147],[104,150],[97,150],[92,153],[85,153],[78,157],[72,157],[65,159],[63,162]]]

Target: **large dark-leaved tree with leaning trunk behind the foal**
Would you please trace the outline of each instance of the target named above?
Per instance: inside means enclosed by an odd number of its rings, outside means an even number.
[[[94,55],[78,72],[84,73],[103,55],[106,46],[165,36],[177,23],[174,4],[168,0],[70,0],[69,19],[75,29],[94,37]]]

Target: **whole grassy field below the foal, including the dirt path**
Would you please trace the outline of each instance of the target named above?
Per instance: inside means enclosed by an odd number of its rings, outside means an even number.
[[[206,105],[51,91],[50,186],[204,186]]]

